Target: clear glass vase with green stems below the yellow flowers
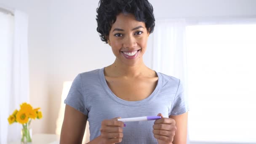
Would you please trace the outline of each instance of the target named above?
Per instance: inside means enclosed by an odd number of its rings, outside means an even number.
[[[29,128],[29,124],[25,123],[22,125],[21,130],[21,144],[31,144],[32,143],[32,129]]]

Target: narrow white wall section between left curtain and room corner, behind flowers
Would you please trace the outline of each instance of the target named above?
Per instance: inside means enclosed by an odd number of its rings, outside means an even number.
[[[50,132],[48,130],[48,70],[49,70],[49,0],[0,0],[0,7],[18,9],[28,14],[28,51],[30,103],[41,107],[43,119],[33,120],[33,133]],[[19,107],[19,106],[17,106]],[[14,110],[14,109],[13,109]]]

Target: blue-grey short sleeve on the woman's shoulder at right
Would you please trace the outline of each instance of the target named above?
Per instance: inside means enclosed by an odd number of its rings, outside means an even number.
[[[177,89],[170,115],[181,115],[188,111],[187,98],[184,95],[183,85],[179,80],[179,87]]]

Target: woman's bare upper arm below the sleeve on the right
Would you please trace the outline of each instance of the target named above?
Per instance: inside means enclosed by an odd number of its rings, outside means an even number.
[[[176,121],[176,132],[173,138],[173,144],[186,144],[187,143],[187,117],[188,112],[181,115],[170,115]]]

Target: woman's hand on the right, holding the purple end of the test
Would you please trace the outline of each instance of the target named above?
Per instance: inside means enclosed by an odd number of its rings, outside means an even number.
[[[153,134],[158,144],[172,144],[176,131],[176,122],[172,118],[165,118],[161,113],[157,116],[162,118],[155,120]]]

